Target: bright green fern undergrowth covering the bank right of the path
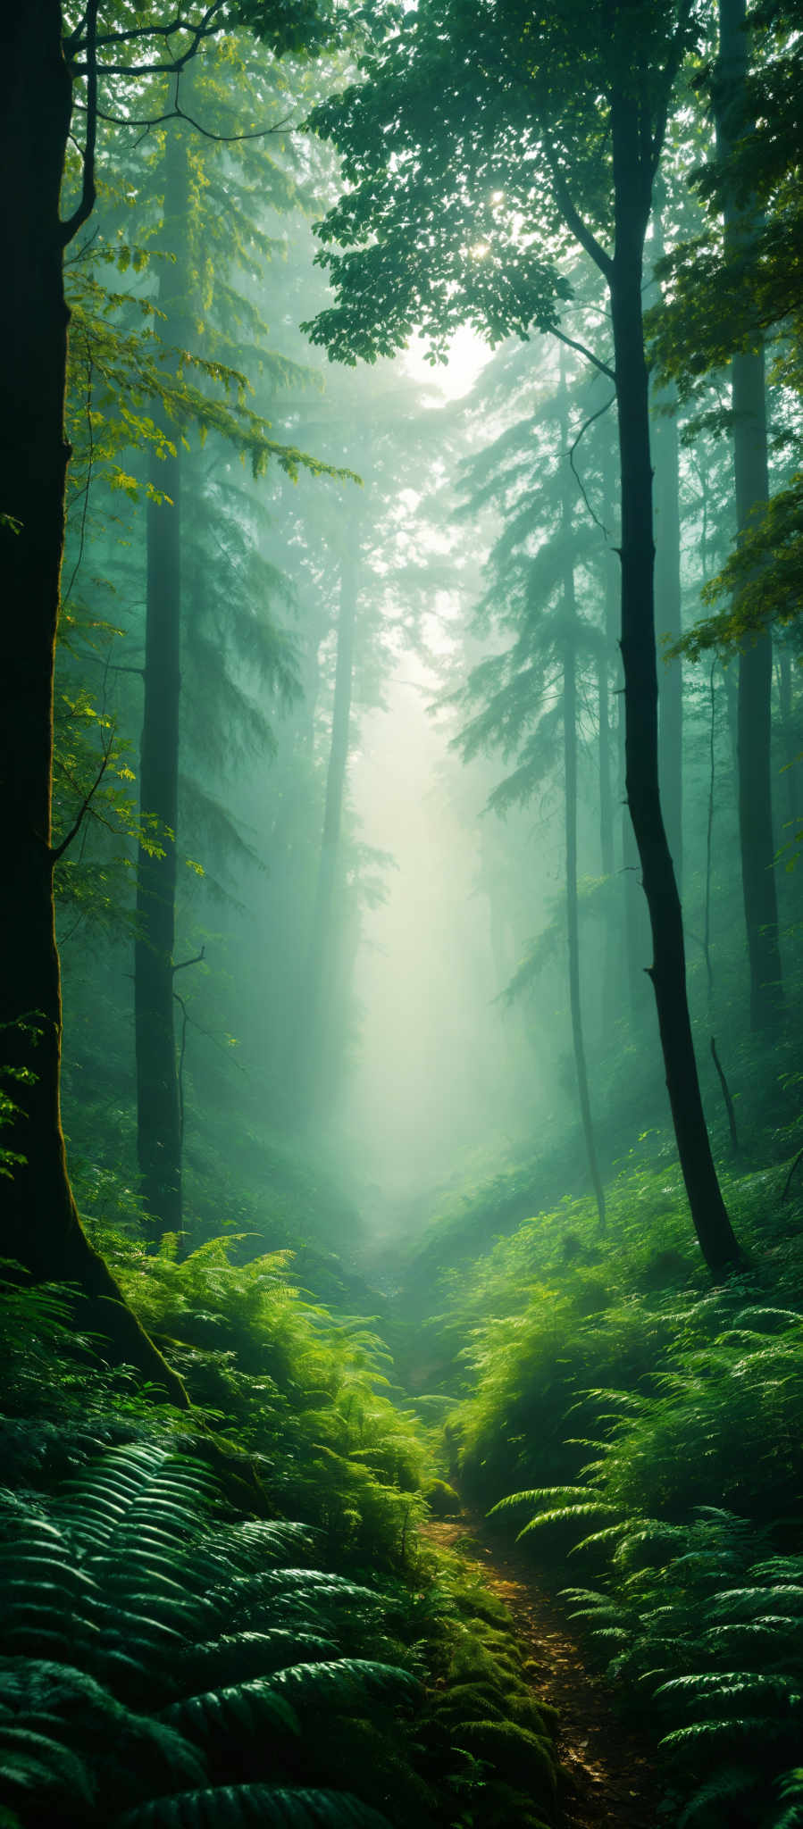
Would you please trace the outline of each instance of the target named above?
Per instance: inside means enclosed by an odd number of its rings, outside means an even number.
[[[459,1483],[573,1582],[589,1655],[660,1743],[677,1829],[803,1824],[803,1236],[785,1180],[732,1174],[746,1262],[726,1288],[658,1156],[620,1174],[607,1233],[563,1202],[470,1275],[446,1269],[430,1328]]]

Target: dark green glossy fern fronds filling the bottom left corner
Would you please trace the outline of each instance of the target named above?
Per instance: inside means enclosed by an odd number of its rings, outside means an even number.
[[[26,1824],[44,1809],[68,1824],[77,1798],[102,1824],[123,1798],[154,1824],[249,1822],[260,1802],[263,1820],[384,1820],[348,1794],[282,1787],[300,1770],[326,1785],[327,1719],[346,1738],[380,1721],[384,1754],[402,1732],[390,1708],[415,1706],[410,1672],[338,1655],[371,1633],[377,1595],[316,1569],[263,1571],[287,1527],[221,1524],[203,1465],[154,1443],[106,1454],[44,1509],[13,1502],[4,1522],[5,1800]],[[316,1633],[293,1630],[300,1613]],[[214,1635],[232,1681],[198,1688],[196,1644],[203,1683]]]

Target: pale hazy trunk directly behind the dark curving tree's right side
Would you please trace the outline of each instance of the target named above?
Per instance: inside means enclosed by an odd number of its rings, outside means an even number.
[[[655,260],[664,254],[660,203],[655,212]],[[680,636],[680,444],[675,391],[653,393],[655,459],[655,627],[658,638]],[[682,668],[679,657],[660,662],[658,680],[658,772],[666,836],[677,885],[682,885]]]

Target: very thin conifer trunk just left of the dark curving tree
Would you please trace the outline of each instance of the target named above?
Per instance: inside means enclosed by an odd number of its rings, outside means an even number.
[[[563,437],[562,437],[563,494],[562,494],[560,519],[562,519],[562,543],[565,552],[563,580],[562,580],[562,611],[563,611],[565,924],[569,936],[569,1010],[571,1010],[571,1039],[574,1050],[574,1074],[578,1083],[580,1121],[584,1127],[585,1158],[589,1163],[591,1185],[594,1189],[600,1227],[604,1229],[605,1193],[602,1187],[600,1165],[596,1160],[594,1121],[591,1116],[591,1094],[589,1094],[589,1070],[585,1061],[585,1041],[584,1041],[584,1010],[580,993],[576,594],[574,594],[574,565],[571,554],[573,496],[567,487],[569,426],[567,426],[563,351],[560,364],[560,399],[562,399],[562,421],[563,421]]]

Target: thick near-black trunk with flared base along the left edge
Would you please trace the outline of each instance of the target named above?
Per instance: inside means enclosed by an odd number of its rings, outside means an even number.
[[[68,309],[59,190],[71,84],[57,0],[0,15],[0,159],[5,276],[0,287],[0,1064],[16,1116],[2,1143],[0,1251],[33,1278],[77,1284],[82,1328],[187,1407],[80,1227],[59,1108],[62,1002],[53,920],[53,657],[64,545]],[[16,527],[16,530],[15,530]]]

